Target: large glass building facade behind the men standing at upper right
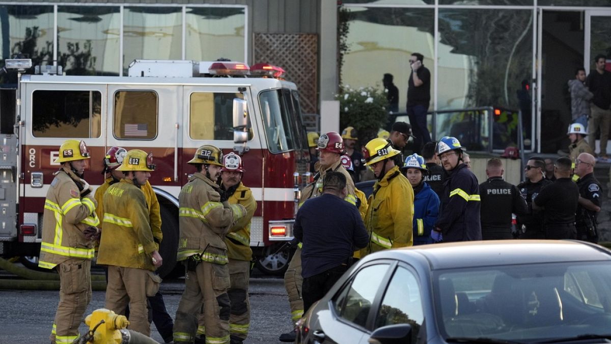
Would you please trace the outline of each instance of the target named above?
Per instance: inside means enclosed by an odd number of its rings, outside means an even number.
[[[430,111],[521,110],[533,151],[568,146],[567,81],[611,56],[611,0],[345,0],[342,11],[343,84],[382,88],[390,73],[404,113],[409,56],[421,53]]]

